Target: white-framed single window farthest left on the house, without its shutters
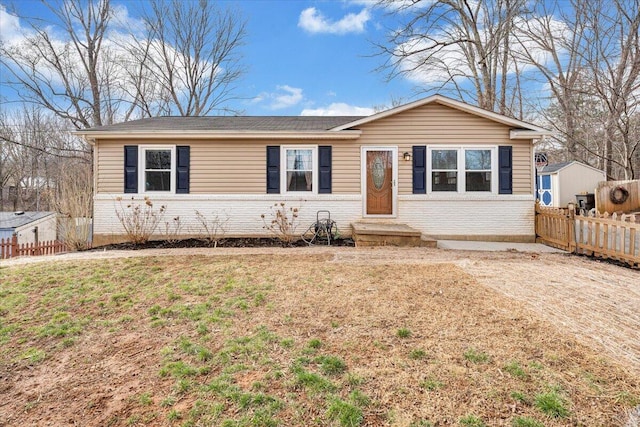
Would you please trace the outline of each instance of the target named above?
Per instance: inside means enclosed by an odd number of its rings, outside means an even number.
[[[175,146],[140,146],[139,173],[144,193],[175,193]]]

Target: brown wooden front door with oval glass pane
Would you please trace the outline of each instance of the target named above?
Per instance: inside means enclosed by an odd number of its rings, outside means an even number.
[[[366,150],[366,214],[393,214],[393,151]]]

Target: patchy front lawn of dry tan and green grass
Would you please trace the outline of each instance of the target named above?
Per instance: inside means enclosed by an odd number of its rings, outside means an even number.
[[[612,426],[640,380],[449,263],[0,269],[0,425]]]

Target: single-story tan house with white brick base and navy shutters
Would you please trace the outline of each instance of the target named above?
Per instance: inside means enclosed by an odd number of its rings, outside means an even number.
[[[328,210],[342,236],[364,220],[534,241],[533,144],[549,131],[434,95],[367,117],[156,117],[77,134],[94,146],[98,246],[124,240],[116,212],[145,197],[184,236],[202,230],[196,211],[224,217],[227,237],[265,236],[261,215],[284,203],[300,232]]]

